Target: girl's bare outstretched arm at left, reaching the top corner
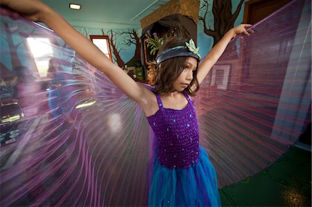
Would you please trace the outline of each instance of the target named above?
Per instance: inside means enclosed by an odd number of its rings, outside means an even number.
[[[1,6],[7,6],[24,15],[31,21],[41,21],[60,35],[87,62],[103,71],[125,95],[139,103],[144,109],[154,95],[141,87],[119,66],[113,64],[89,39],[78,33],[58,12],[38,0],[0,0]],[[144,110],[145,111],[145,110]]]

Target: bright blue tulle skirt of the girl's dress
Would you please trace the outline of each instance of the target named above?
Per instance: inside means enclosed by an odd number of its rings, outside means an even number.
[[[200,147],[190,168],[169,169],[155,160],[148,206],[221,206],[216,170]]]

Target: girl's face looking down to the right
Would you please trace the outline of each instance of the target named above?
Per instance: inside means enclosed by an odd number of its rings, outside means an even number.
[[[184,91],[193,80],[193,72],[197,69],[197,60],[195,57],[188,57],[184,62],[183,71],[173,82],[175,91]]]

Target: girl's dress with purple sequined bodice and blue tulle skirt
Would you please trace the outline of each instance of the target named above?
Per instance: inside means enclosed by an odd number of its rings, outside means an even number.
[[[186,92],[182,110],[166,109],[157,93],[159,110],[148,123],[159,139],[148,195],[148,206],[220,206],[214,166],[199,146],[198,122]]]

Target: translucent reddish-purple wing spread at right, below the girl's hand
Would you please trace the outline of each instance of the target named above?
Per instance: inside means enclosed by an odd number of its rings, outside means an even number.
[[[236,38],[195,98],[219,188],[267,168],[311,123],[311,1],[293,1]]]

